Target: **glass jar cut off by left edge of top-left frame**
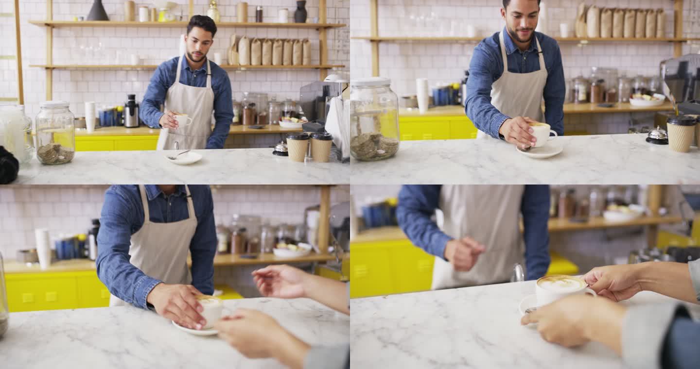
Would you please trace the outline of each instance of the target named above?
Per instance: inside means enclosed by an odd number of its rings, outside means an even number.
[[[0,146],[13,154],[20,164],[26,164],[34,154],[31,118],[24,106],[0,106]]]

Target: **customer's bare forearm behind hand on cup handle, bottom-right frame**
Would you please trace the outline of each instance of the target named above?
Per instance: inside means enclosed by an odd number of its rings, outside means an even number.
[[[636,268],[636,279],[643,290],[698,303],[688,264],[648,261],[638,264]]]

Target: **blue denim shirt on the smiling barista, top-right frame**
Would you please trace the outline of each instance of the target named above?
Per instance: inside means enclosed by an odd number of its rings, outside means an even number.
[[[521,51],[513,43],[508,32],[503,29],[505,35],[505,52],[507,53],[508,71],[512,73],[531,73],[540,70],[540,58],[537,43],[533,40],[530,48]],[[503,57],[500,53],[498,35],[484,38],[477,45],[469,65],[469,78],[467,80],[467,96],[465,113],[480,131],[493,138],[500,138],[498,129],[507,120],[504,115],[491,105],[491,85],[503,74]],[[564,80],[563,65],[561,64],[561,51],[554,38],[535,32],[540,41],[542,54],[545,57],[547,68],[547,82],[542,97],[545,100],[545,122],[552,126],[559,136],[564,133],[563,103],[566,96],[566,81]],[[533,91],[513,91],[513,94],[539,93]]]

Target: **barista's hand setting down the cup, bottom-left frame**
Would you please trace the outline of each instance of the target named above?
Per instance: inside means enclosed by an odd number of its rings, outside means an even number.
[[[146,302],[162,317],[190,329],[202,329],[207,321],[200,315],[204,308],[195,298],[202,292],[191,284],[159,283],[148,293]]]

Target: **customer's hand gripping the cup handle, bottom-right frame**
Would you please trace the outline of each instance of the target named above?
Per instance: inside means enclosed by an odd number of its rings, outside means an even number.
[[[638,270],[638,264],[599,266],[591,269],[583,278],[596,294],[617,302],[642,291]]]

